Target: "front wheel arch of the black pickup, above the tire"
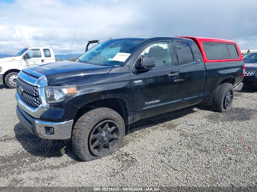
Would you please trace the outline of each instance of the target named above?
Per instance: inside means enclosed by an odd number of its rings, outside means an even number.
[[[81,108],[78,109],[74,116],[74,122],[78,120],[79,117],[81,117],[83,114],[87,113],[90,109],[95,109],[98,107],[107,107],[109,109],[113,109],[117,113],[120,114],[120,116],[123,118],[125,127],[126,127],[126,134],[129,130],[129,113],[128,113],[128,107],[124,99],[122,98],[105,98],[105,99],[98,99],[95,101],[92,101],[90,103],[86,103]]]

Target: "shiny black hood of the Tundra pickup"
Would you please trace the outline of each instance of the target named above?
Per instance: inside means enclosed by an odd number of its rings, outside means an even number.
[[[106,74],[112,68],[112,66],[98,66],[74,61],[57,61],[29,67],[29,69],[45,75],[48,85],[60,85],[87,76]]]

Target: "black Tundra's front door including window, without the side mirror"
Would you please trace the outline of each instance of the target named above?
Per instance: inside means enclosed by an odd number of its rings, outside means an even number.
[[[172,54],[171,42],[153,42],[142,49],[136,62],[140,61],[141,56],[152,56],[155,59],[154,68],[137,71],[132,67],[134,122],[176,108],[179,71],[174,64],[176,59]]]

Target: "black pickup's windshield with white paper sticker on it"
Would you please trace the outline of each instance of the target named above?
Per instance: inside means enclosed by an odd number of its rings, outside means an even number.
[[[142,41],[140,40],[124,39],[104,41],[89,49],[76,62],[102,66],[122,66],[141,43]]]

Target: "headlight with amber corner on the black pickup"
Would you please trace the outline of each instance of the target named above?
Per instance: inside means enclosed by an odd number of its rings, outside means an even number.
[[[47,103],[60,103],[71,98],[78,92],[75,85],[47,86],[44,88]]]

